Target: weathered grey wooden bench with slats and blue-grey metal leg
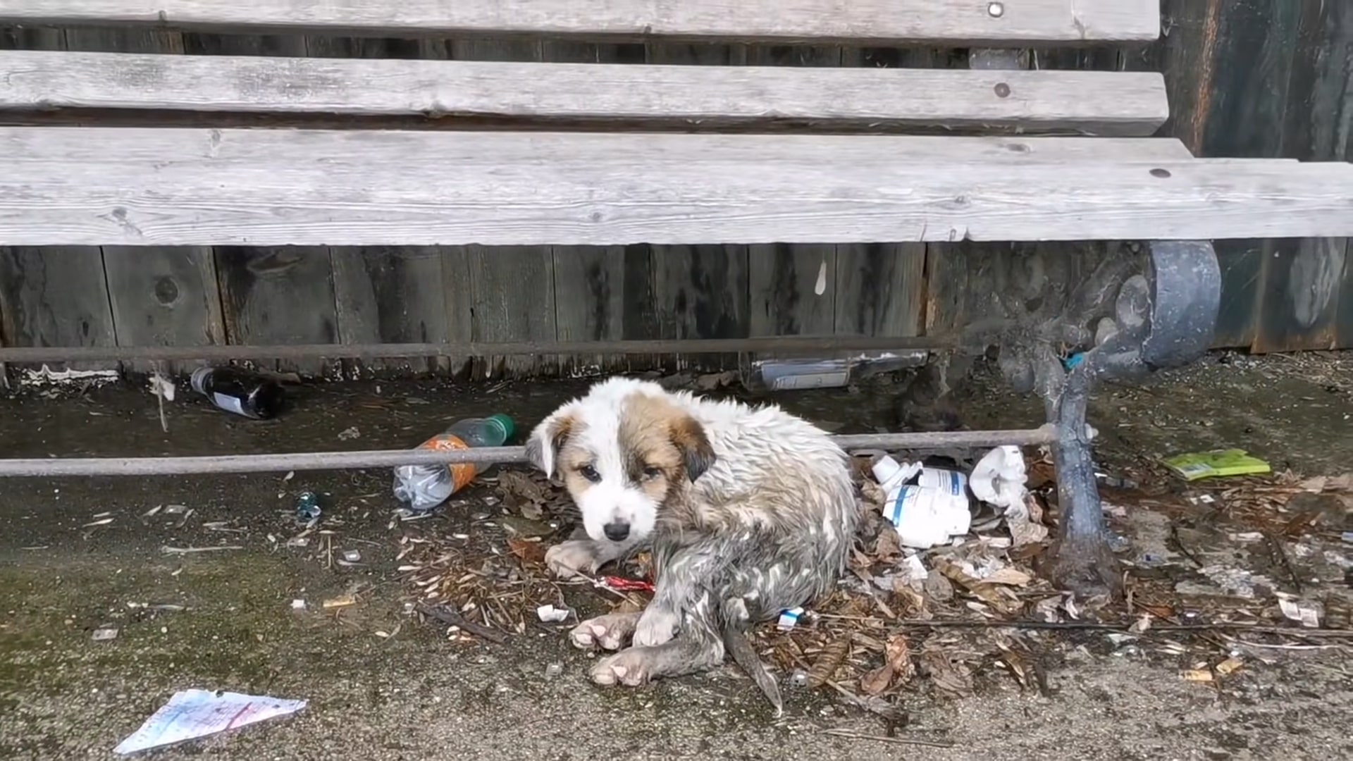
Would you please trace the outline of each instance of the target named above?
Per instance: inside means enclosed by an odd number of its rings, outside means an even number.
[[[1054,573],[1082,592],[1118,581],[1091,385],[1208,347],[1207,241],[1353,236],[1348,164],[1195,158],[1150,137],[1161,73],[1019,66],[1147,43],[1157,0],[0,0],[0,23],[974,47],[969,69],[0,51],[0,110],[34,116],[0,127],[0,245],[1155,241],[982,339],[1057,427]]]

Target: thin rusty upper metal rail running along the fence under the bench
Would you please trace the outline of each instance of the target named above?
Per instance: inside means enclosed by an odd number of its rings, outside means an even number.
[[[655,355],[953,348],[944,336],[759,336],[641,341],[453,341],[436,344],[296,344],[211,347],[0,347],[0,363],[227,362],[233,359],[390,359],[406,356]]]

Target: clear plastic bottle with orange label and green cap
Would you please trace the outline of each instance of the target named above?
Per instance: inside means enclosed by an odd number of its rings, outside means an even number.
[[[419,450],[468,450],[469,447],[502,447],[511,439],[515,425],[506,414],[468,417],[456,421],[445,432],[428,439]],[[395,469],[395,498],[410,510],[426,512],[464,489],[491,463],[459,464],[402,464]]]

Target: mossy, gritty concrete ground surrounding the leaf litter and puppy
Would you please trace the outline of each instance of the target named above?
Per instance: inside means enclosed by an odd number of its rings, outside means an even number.
[[[1105,389],[1093,420],[1104,432],[1103,459],[1145,470],[1164,454],[1224,444],[1307,475],[1353,471],[1349,370],[1339,357],[1212,357],[1146,387]],[[502,410],[530,424],[576,389],[318,385],[292,389],[288,414],[262,424],[180,390],[168,408],[169,433],[141,387],[24,393],[0,399],[0,456],[395,448],[467,414]],[[976,389],[963,397],[970,425],[1038,422],[1034,401],[981,378]],[[840,432],[893,425],[886,387],[782,401]],[[296,534],[294,500],[306,489],[331,496],[321,525],[331,534],[319,552],[287,546]],[[897,737],[951,747],[825,735],[882,729],[824,692],[792,693],[775,722],[732,668],[601,689],[587,681],[589,659],[567,645],[564,628],[532,624],[507,645],[488,645],[446,639],[441,627],[406,616],[409,590],[395,570],[400,539],[453,531],[472,520],[467,513],[494,508],[478,489],[446,515],[398,523],[388,489],[387,471],[0,482],[0,757],[112,757],[123,737],[191,687],[310,703],[295,716],[152,757],[1353,757],[1353,673],[1338,645],[1346,640],[1335,639],[1254,649],[1231,677],[1199,684],[1180,678],[1187,659],[1105,654],[1112,647],[1093,632],[1047,635],[1061,654],[1047,695],[999,676],[978,680],[969,699],[904,695],[911,724]],[[192,512],[145,517],[157,505]],[[359,550],[361,565],[330,565],[330,543],[340,555]],[[164,551],[221,546],[241,548]],[[359,605],[340,615],[321,609],[348,592]],[[298,599],[306,611],[292,609]],[[100,627],[116,627],[116,639],[93,642]]]

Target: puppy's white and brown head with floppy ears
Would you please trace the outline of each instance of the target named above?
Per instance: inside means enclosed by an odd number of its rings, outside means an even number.
[[[526,448],[547,475],[559,474],[597,542],[648,538],[663,505],[714,462],[704,428],[647,393],[570,402],[532,432]]]

